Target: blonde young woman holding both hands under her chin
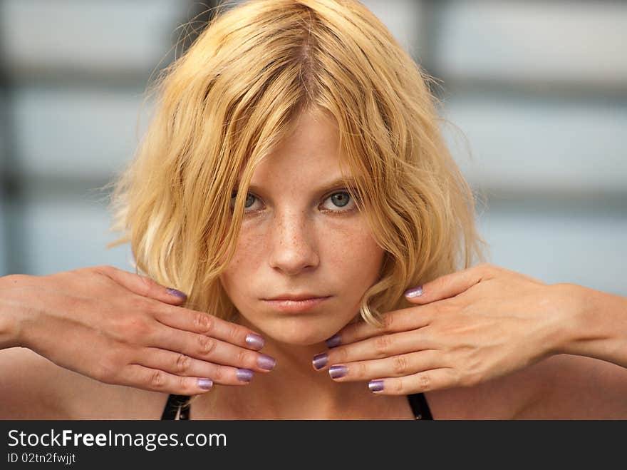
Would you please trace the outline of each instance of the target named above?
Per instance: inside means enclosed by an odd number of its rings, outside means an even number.
[[[356,1],[218,15],[115,188],[142,276],[0,280],[0,416],[626,419],[627,299],[475,264],[428,81]]]

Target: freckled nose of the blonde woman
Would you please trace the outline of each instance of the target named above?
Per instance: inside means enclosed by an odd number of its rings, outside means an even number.
[[[270,265],[286,275],[297,275],[318,266],[316,235],[304,217],[281,218],[274,223]]]

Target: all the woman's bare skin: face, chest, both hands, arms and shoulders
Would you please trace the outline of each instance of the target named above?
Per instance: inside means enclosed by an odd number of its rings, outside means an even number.
[[[259,212],[245,215],[222,276],[240,325],[200,325],[165,287],[110,267],[0,278],[2,417],[158,419],[173,392],[199,394],[192,419],[413,419],[405,394],[424,392],[435,419],[627,419],[623,297],[478,265],[428,282],[383,328],[351,322],[383,252],[357,212],[325,212],[341,190],[321,192],[338,176],[336,143],[328,122],[304,115],[254,175]],[[330,298],[299,314],[262,300],[303,290]],[[271,372],[244,340],[252,332],[276,358]],[[174,359],[140,354],[159,347]],[[311,367],[320,353],[328,363]],[[180,367],[185,357],[195,360]],[[125,373],[100,377],[103,360]],[[169,382],[125,369],[138,362]],[[331,379],[338,364],[347,374]],[[196,377],[239,387],[203,393]]]

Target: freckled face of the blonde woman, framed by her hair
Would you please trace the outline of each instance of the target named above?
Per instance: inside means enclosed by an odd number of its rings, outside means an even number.
[[[341,182],[338,136],[305,113],[257,167],[221,282],[242,315],[276,341],[314,344],[358,315],[383,250]],[[234,198],[233,198],[234,200]],[[277,297],[324,297],[306,302]]]

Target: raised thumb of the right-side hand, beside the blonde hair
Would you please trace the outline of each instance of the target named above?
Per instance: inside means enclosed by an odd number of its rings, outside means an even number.
[[[493,275],[494,267],[482,263],[466,270],[440,276],[425,285],[408,289],[405,291],[405,299],[420,305],[448,299],[465,292],[482,280],[491,279]]]

